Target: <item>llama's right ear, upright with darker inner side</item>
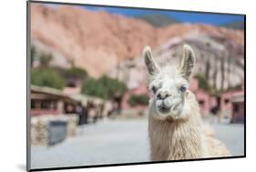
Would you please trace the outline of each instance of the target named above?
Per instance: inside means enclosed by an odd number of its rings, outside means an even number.
[[[181,76],[185,77],[188,81],[192,75],[193,68],[196,64],[196,57],[192,48],[188,45],[183,46],[183,56],[179,63],[179,70]]]

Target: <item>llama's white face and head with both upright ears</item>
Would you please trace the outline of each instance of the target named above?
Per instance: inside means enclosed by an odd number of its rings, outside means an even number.
[[[160,68],[154,60],[150,47],[143,53],[149,74],[149,89],[151,91],[150,110],[152,116],[158,119],[178,119],[189,112],[186,96],[189,88],[189,78],[195,66],[195,55],[190,46],[183,46],[183,56],[179,65]]]

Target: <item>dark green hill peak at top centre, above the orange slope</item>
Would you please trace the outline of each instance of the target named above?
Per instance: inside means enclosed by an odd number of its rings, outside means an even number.
[[[171,18],[166,15],[159,15],[159,14],[136,15],[135,17],[145,20],[146,22],[148,22],[148,24],[156,27],[162,27],[162,26],[179,23],[174,18]]]

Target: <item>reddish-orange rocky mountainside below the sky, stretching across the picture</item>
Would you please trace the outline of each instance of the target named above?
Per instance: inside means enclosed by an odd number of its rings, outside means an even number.
[[[140,55],[146,45],[155,49],[173,37],[191,32],[244,44],[242,31],[189,24],[155,28],[140,19],[67,5],[56,8],[31,5],[31,32],[32,43],[44,45],[40,47],[87,69],[95,77],[107,74],[125,59]]]

